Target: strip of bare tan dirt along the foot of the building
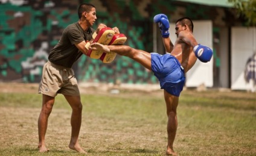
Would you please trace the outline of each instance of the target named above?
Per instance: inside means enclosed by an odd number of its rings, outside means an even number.
[[[37,93],[38,83],[0,83],[0,93]],[[107,83],[80,83],[78,84],[81,94],[86,95],[120,95],[139,97],[143,95],[163,96],[163,90],[159,84],[107,84]],[[207,92],[208,94],[204,94]],[[202,93],[202,94],[201,94]],[[255,98],[255,93],[246,91],[232,91],[230,89],[187,89],[181,93],[181,96],[194,95],[196,97],[204,96],[208,98],[231,96],[235,98]]]

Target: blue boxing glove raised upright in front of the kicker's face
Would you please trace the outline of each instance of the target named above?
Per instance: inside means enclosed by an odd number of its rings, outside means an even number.
[[[160,28],[162,37],[169,37],[170,23],[168,17],[165,14],[156,14],[156,16],[154,17],[154,22],[158,23],[158,27]]]

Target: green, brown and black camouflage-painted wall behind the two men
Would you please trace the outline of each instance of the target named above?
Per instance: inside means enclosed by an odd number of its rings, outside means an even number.
[[[81,2],[95,5],[98,17],[95,28],[98,23],[117,26],[127,36],[126,45],[148,52],[153,52],[153,16],[158,13],[167,14],[170,22],[184,16],[210,19],[216,28],[241,23],[235,20],[231,8],[178,1],[0,1],[0,81],[38,82],[48,52],[63,29],[77,22],[77,7]],[[121,56],[110,64],[82,56],[74,69],[78,81],[114,83],[118,79],[122,83],[158,83],[153,73]]]

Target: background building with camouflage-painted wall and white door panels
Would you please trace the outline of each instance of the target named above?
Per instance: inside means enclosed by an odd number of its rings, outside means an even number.
[[[77,7],[90,2],[97,9],[97,23],[117,26],[126,34],[126,45],[164,54],[161,35],[153,17],[167,14],[174,41],[174,23],[187,16],[194,21],[194,36],[213,48],[209,63],[200,63],[187,73],[187,87],[223,87],[245,90],[243,72],[256,49],[255,27],[245,27],[235,9],[226,1],[92,0],[92,1],[0,1],[0,81],[37,83],[50,49],[63,29],[77,22]],[[117,56],[103,64],[82,56],[74,66],[83,82],[158,84],[153,73],[130,58]]]

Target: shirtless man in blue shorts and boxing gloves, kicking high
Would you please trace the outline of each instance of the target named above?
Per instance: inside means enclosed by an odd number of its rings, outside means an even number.
[[[197,43],[193,36],[193,22],[184,17],[176,22],[177,40],[171,43],[169,38],[169,22],[165,14],[157,14],[154,21],[159,24],[165,50],[170,54],[160,55],[149,53],[126,45],[101,45],[93,43],[90,48],[105,52],[116,52],[119,55],[130,57],[142,66],[151,70],[164,89],[164,99],[167,108],[167,155],[177,155],[173,150],[173,142],[178,126],[177,107],[179,95],[184,87],[185,73],[193,67],[197,58],[202,62],[211,60],[213,51]]]

